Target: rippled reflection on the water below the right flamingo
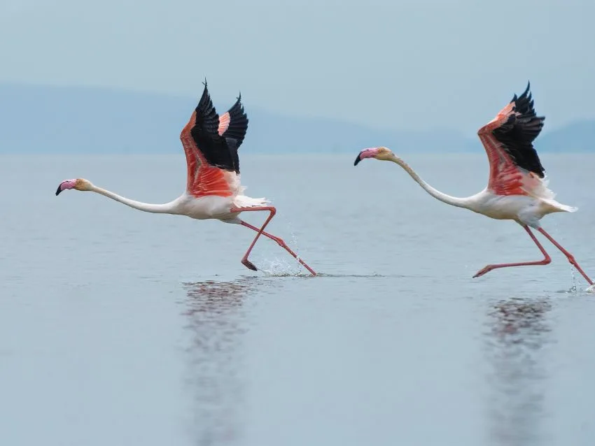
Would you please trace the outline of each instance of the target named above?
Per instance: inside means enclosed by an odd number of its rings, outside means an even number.
[[[511,298],[491,307],[489,438],[493,445],[541,445],[547,416],[544,347],[550,340],[547,299]]]

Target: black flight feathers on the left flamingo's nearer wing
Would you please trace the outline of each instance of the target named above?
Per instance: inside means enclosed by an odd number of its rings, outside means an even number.
[[[241,111],[243,113],[243,109]],[[219,117],[213,101],[211,101],[207,82],[205,81],[202,96],[196,107],[196,122],[193,128],[190,129],[190,134],[200,152],[204,155],[204,158],[207,159],[207,163],[224,171],[239,174],[239,157],[237,154],[239,144],[233,135],[225,137],[224,134],[220,136],[218,134],[218,128]],[[246,131],[244,130],[245,133]]]

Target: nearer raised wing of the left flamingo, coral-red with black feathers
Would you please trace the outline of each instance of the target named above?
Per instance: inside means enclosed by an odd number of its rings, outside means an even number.
[[[235,138],[218,133],[217,115],[207,82],[180,139],[188,164],[187,191],[194,196],[237,194],[239,158]]]

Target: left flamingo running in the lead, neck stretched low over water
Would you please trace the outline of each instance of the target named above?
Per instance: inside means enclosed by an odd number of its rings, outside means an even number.
[[[216,219],[225,223],[241,224],[257,232],[241,259],[246,268],[258,271],[248,260],[248,255],[262,234],[278,243],[312,275],[316,275],[281,238],[265,232],[265,227],[274,217],[276,208],[268,206],[270,202],[267,199],[253,199],[243,194],[246,188],[240,185],[237,151],[246,136],[248,117],[241,103],[241,94],[226,113],[218,116],[207,89],[207,80],[203,83],[204,90],[198,106],[180,134],[186,154],[188,179],[186,191],[179,198],[165,204],[141,203],[97,187],[85,178],[62,181],[56,195],[66,189],[76,189],[95,192],[148,213],[186,215],[196,220]],[[260,229],[239,218],[241,213],[260,210],[269,213]]]

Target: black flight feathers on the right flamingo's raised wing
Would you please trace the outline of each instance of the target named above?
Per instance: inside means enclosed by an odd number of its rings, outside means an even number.
[[[507,122],[493,130],[492,134],[515,165],[544,178],[545,169],[533,148],[533,141],[539,136],[545,117],[535,114],[530,87],[528,82],[525,92],[519,97],[515,94],[510,101],[514,104],[513,110],[520,115],[510,115]]]

